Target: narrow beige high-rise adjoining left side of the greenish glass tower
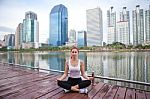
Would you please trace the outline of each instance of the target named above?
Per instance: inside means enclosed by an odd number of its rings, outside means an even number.
[[[22,44],[23,24],[19,23],[15,33],[15,48],[20,49]]]

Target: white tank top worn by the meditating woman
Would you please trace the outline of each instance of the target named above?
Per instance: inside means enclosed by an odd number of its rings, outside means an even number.
[[[72,66],[69,59],[69,77],[71,78],[80,78],[80,60],[78,60],[77,66]]]

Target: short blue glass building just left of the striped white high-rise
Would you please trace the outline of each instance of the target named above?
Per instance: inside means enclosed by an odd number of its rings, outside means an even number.
[[[78,31],[77,45],[78,47],[87,46],[86,31]]]

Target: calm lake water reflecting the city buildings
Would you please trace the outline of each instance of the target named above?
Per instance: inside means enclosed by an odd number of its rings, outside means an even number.
[[[44,69],[64,70],[69,52],[0,53],[0,61]],[[79,58],[85,63],[87,74],[121,78],[150,83],[149,52],[80,52]],[[100,80],[121,86],[150,90],[147,86],[116,81]]]

